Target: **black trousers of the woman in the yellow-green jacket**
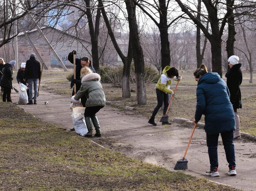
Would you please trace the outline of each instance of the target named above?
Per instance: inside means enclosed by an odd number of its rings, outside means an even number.
[[[163,108],[163,115],[165,115],[168,105],[169,105],[169,94],[161,91],[160,89],[155,89],[156,97],[157,97],[157,105],[155,106],[155,109],[152,113],[152,117],[155,117],[158,110],[162,107],[162,104],[164,105]]]

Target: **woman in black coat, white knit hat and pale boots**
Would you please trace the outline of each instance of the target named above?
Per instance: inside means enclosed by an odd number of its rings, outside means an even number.
[[[230,91],[230,102],[232,103],[235,119],[236,119],[236,130],[234,131],[234,139],[241,139],[240,133],[240,119],[237,109],[242,108],[241,102],[241,90],[240,85],[243,80],[243,74],[241,71],[242,64],[239,63],[238,56],[230,56],[228,59],[230,69],[226,73],[227,86]]]

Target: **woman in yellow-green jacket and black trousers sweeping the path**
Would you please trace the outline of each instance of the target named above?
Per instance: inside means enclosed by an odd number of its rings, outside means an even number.
[[[157,114],[158,110],[162,107],[162,104],[164,104],[163,115],[165,115],[169,105],[169,94],[174,95],[174,92],[169,88],[173,80],[175,81],[181,80],[181,76],[179,76],[179,72],[177,68],[166,66],[163,69],[162,75],[155,86],[157,105],[155,106],[152,116],[148,121],[149,124],[156,126],[156,123],[154,121],[155,115]],[[162,122],[162,124],[170,124],[170,123]]]

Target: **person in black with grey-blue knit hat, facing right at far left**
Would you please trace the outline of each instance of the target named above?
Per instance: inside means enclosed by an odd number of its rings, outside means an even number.
[[[11,102],[11,89],[12,89],[12,69],[16,64],[15,60],[11,60],[10,63],[4,64],[3,75],[1,77],[0,86],[4,88],[3,102]]]

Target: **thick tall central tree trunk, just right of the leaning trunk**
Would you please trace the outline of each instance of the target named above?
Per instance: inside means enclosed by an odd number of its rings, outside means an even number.
[[[126,10],[128,14],[129,29],[132,39],[132,49],[133,49],[133,61],[134,70],[136,76],[136,93],[137,93],[137,103],[146,104],[146,87],[145,87],[145,77],[144,77],[144,55],[143,50],[139,41],[138,25],[135,14],[135,5],[131,0],[126,0]]]

